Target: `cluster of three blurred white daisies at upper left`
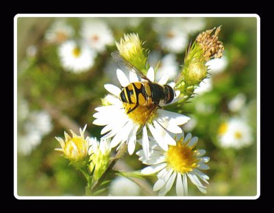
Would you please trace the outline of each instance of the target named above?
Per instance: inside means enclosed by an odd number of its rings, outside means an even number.
[[[114,44],[108,25],[95,18],[83,18],[81,38],[74,39],[75,31],[65,20],[55,21],[45,34],[45,40],[58,45],[58,55],[65,71],[83,73],[95,64],[98,53]]]

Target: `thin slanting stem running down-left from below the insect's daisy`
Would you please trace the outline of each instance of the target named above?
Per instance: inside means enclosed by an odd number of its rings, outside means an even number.
[[[123,145],[121,145],[119,151],[116,153],[116,155],[114,156],[114,158],[112,158],[110,160],[108,168],[105,170],[105,172],[103,173],[103,175],[101,175],[101,177],[92,184],[92,187],[91,187],[91,191],[92,192],[94,192],[95,190],[97,190],[97,188],[105,180],[105,177],[108,176],[109,171],[112,170],[112,167],[123,156],[123,154],[125,153],[125,151],[127,151],[127,144],[126,143],[124,143]]]

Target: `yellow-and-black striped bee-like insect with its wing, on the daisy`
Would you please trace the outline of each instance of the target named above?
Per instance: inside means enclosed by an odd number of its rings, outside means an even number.
[[[148,77],[138,71],[136,67],[125,60],[119,53],[112,52],[112,57],[122,69],[125,66],[129,71],[139,75],[141,79],[145,79],[143,82],[133,82],[121,88],[119,99],[125,105],[130,105],[127,114],[134,112],[139,106],[146,106],[152,112],[155,108],[162,108],[166,103],[173,101],[175,92],[171,86],[151,82]]]

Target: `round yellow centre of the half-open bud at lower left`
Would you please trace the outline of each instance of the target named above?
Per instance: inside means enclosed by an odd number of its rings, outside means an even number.
[[[82,160],[88,154],[86,140],[82,137],[74,136],[66,142],[64,153],[72,160]]]

